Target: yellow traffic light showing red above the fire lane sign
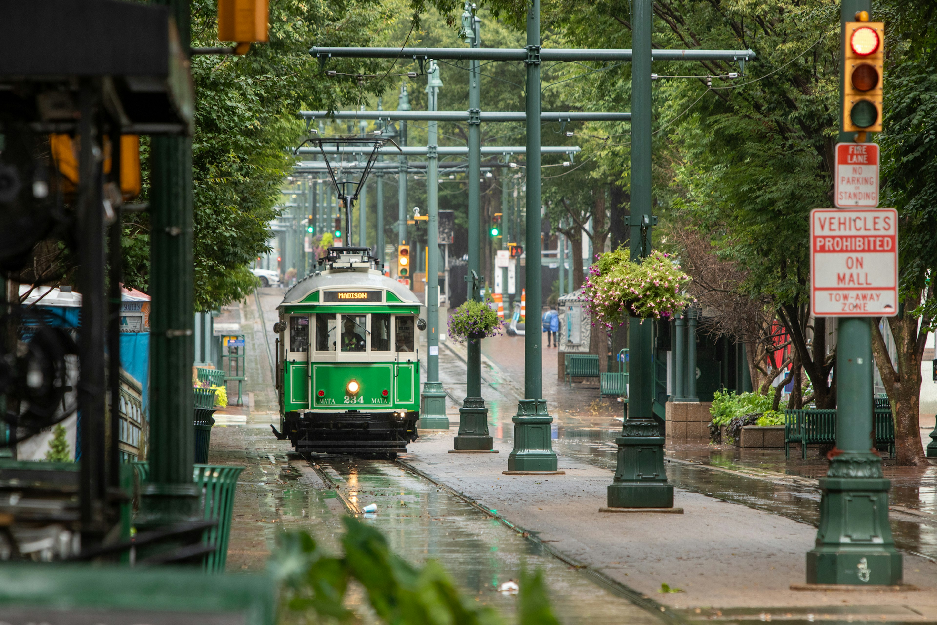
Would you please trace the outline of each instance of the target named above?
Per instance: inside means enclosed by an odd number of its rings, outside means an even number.
[[[858,19],[869,19],[862,11]],[[846,22],[843,132],[882,132],[884,22]]]

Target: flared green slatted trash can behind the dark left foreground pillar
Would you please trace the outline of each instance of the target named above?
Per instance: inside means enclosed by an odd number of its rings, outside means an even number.
[[[150,475],[147,462],[133,462],[137,473],[139,498],[140,486]],[[214,544],[215,551],[205,556],[202,566],[208,573],[223,573],[228,561],[228,541],[231,538],[231,515],[234,512],[234,494],[237,479],[244,467],[220,467],[198,464],[192,467],[192,481],[201,488],[201,503],[205,520],[216,521],[214,528],[205,530],[202,543]],[[139,499],[138,499],[139,500]]]

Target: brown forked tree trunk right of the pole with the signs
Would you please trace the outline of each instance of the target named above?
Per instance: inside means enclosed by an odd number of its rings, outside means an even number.
[[[928,298],[930,298],[930,288],[928,291]],[[919,304],[919,297],[907,297],[903,302],[903,308],[910,311]],[[928,465],[924,445],[921,443],[919,410],[921,359],[924,355],[929,325],[930,318],[927,316],[921,319],[920,331],[917,329],[918,320],[908,313],[900,317],[888,318],[888,328],[895,339],[898,356],[897,369],[888,355],[878,319],[872,328],[872,354],[891,404],[892,418],[895,420],[896,463],[901,467]]]

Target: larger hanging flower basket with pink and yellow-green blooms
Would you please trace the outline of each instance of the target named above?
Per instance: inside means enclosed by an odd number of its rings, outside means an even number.
[[[599,255],[589,267],[586,299],[592,319],[606,328],[621,325],[629,317],[665,319],[691,305],[686,294],[690,276],[668,254],[651,252],[642,262],[632,262],[627,249]]]

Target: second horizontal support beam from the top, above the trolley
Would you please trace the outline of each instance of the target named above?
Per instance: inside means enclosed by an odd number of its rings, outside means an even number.
[[[389,119],[416,122],[468,122],[468,111],[300,111],[305,119]],[[526,122],[523,111],[481,112],[483,122]],[[542,112],[543,122],[627,122],[630,112]]]

